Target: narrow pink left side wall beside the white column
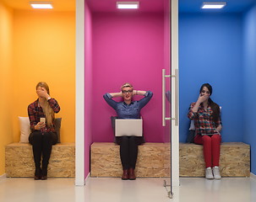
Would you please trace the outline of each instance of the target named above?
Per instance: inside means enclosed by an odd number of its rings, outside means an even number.
[[[92,105],[92,35],[91,35],[91,13],[85,4],[85,24],[84,24],[84,176],[90,172],[90,144],[91,144],[91,105]]]

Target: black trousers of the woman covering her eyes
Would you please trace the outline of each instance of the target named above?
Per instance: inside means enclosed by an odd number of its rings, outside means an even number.
[[[41,168],[41,157],[42,168],[46,169],[51,157],[52,145],[57,143],[57,133],[46,132],[42,134],[41,131],[35,130],[30,134],[29,141],[33,148],[35,169]]]

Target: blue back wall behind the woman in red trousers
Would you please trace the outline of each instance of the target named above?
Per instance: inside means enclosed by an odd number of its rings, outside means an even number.
[[[243,140],[242,14],[180,13],[180,141],[188,135],[188,107],[204,82],[222,107],[222,141]]]

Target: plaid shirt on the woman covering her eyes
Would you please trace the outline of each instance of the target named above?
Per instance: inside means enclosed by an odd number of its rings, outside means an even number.
[[[51,108],[53,109],[54,113],[58,113],[60,111],[60,107],[57,104],[57,100],[54,98],[50,98],[48,100],[48,103],[50,104]],[[35,130],[35,125],[37,125],[38,122],[40,122],[40,118],[45,118],[46,114],[44,114],[43,109],[41,108],[40,104],[38,103],[38,99],[35,100],[34,103],[31,103],[28,107],[28,114],[30,117],[30,129],[33,132]],[[55,132],[54,125],[49,127],[46,125],[46,127],[41,128],[41,132]]]

